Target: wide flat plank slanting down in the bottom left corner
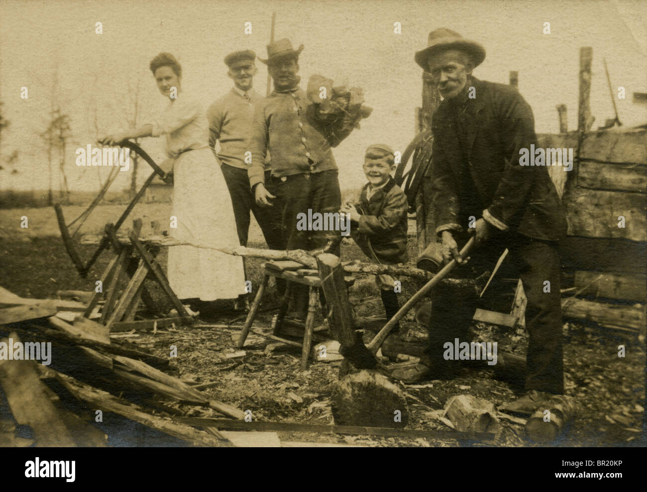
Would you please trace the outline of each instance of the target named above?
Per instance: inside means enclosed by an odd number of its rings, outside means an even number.
[[[20,341],[15,332],[9,337],[14,343]],[[74,446],[69,429],[38,377],[34,361],[0,359],[0,385],[16,422],[34,431],[36,446]]]

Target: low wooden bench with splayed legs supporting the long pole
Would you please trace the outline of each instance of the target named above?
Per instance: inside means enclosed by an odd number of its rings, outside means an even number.
[[[313,343],[314,313],[317,308],[318,289],[322,286],[319,274],[317,270],[309,270],[296,261],[266,261],[261,264],[261,271],[263,273],[263,280],[261,281],[261,286],[258,288],[256,297],[254,297],[254,302],[252,303],[252,307],[250,308],[247,319],[245,320],[245,325],[243,325],[241,334],[238,337],[237,347],[243,348],[243,345],[245,345],[245,339],[247,339],[247,336],[252,329],[252,323],[254,323],[254,319],[258,313],[258,308],[263,300],[263,293],[265,292],[265,288],[267,287],[270,277],[285,279],[285,281],[287,281],[285,295],[283,295],[283,300],[281,301],[279,312],[276,316],[276,323],[274,324],[274,335],[278,334],[283,325],[283,319],[287,313],[290,301],[292,284],[297,283],[307,285],[309,286],[308,314],[305,318],[305,329],[303,332],[301,351],[301,369],[307,370],[308,356],[310,355],[310,349]],[[344,281],[347,287],[355,283],[355,279],[351,276],[344,277]]]

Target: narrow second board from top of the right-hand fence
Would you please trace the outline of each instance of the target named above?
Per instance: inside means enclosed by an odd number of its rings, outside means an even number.
[[[647,193],[647,166],[582,160],[577,186]]]

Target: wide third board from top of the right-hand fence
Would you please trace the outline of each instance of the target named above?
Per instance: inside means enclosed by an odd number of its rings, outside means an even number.
[[[565,192],[564,206],[569,235],[647,241],[647,195],[575,186]]]

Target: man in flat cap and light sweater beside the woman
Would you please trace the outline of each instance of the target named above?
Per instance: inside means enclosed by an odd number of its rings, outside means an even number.
[[[258,206],[247,174],[248,164],[245,153],[250,151],[250,137],[254,111],[263,98],[254,91],[256,53],[252,50],[236,51],[225,56],[229,67],[228,76],[234,81],[234,87],[215,101],[208,109],[209,146],[215,151],[219,142],[220,151],[216,153],[221,162],[221,170],[232,197],[236,229],[241,246],[247,246],[250,224],[250,211],[261,226],[267,246],[282,249],[280,217],[274,210]],[[269,163],[261,162],[261,173],[269,177]],[[281,290],[281,286],[278,286]],[[247,297],[245,298],[247,304]],[[237,305],[240,305],[238,302]]]

